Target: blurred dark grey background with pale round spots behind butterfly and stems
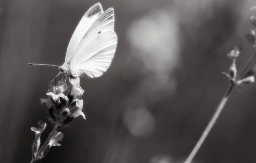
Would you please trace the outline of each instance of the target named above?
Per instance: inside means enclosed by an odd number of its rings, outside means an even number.
[[[226,56],[253,50],[254,0],[0,0],[0,162],[29,163],[48,83],[82,15],[113,7],[118,46],[102,77],[81,79],[83,112],[38,163],[182,163],[229,85]],[[194,163],[256,162],[256,86],[234,89]]]

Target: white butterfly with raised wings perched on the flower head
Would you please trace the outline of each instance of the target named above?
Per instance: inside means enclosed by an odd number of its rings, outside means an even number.
[[[113,8],[103,12],[100,3],[90,7],[81,18],[70,39],[65,62],[62,66],[58,66],[60,70],[58,75],[64,74],[79,80],[79,77],[84,76],[100,77],[107,71],[113,60],[117,44],[114,20]],[[29,63],[29,65],[44,64]]]

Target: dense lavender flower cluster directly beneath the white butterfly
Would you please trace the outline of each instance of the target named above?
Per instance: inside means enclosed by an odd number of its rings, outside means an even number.
[[[49,84],[47,92],[49,97],[41,99],[41,103],[46,103],[49,109],[50,122],[54,125],[60,122],[57,124],[58,128],[67,126],[79,115],[85,119],[85,115],[81,111],[84,102],[80,99],[84,92],[79,83],[79,77],[70,80],[63,77],[57,84],[53,81]]]

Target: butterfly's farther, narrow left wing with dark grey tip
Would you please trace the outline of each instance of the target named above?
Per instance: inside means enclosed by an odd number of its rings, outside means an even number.
[[[97,18],[102,14],[103,10],[100,3],[96,3],[86,11],[70,39],[70,42],[67,47],[65,63],[69,63],[71,61],[73,54],[75,53],[76,48],[79,42],[81,41],[82,37],[84,36],[84,34],[86,34],[88,29],[90,29],[90,27],[97,20]]]

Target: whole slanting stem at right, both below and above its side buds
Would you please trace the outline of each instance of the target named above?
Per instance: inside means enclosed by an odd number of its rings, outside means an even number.
[[[250,57],[248,62],[245,64],[244,68],[240,71],[239,75],[237,75],[238,79],[239,79],[239,77],[241,77],[241,75],[244,74],[244,71],[246,71],[248,69],[251,61],[253,60],[253,58],[255,56],[256,56],[256,51]],[[209,124],[207,125],[207,127],[204,130],[203,134],[201,135],[200,139],[196,143],[194,149],[189,154],[189,157],[187,157],[187,159],[184,163],[191,163],[191,161],[195,157],[195,154],[197,154],[198,150],[201,148],[202,144],[204,143],[204,140],[208,136],[209,132],[211,131],[211,129],[213,127],[213,125],[216,123],[216,120],[218,119],[219,115],[221,114],[222,110],[224,109],[224,106],[226,105],[227,100],[229,99],[230,93],[231,93],[232,89],[234,88],[234,86],[235,86],[235,83],[231,80],[231,85],[230,85],[229,89],[227,90],[227,93],[225,94],[225,96],[221,100],[221,103],[219,104],[218,108],[216,109],[215,113],[213,114],[212,119],[210,120]]]

